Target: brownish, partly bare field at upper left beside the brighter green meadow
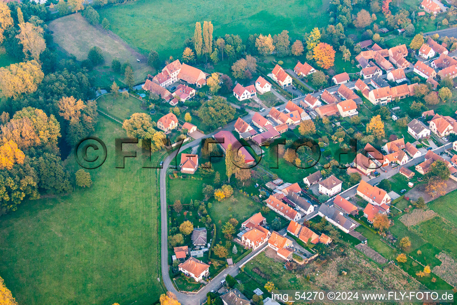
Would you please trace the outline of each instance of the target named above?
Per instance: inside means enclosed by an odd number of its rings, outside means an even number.
[[[54,42],[58,43],[59,47],[68,54],[73,54],[78,60],[86,59],[90,48],[94,46],[101,48],[105,56],[105,65],[96,67],[96,71],[99,72],[95,78],[94,86],[96,87],[106,88],[107,85],[111,85],[111,77],[116,81],[123,80],[123,76],[111,70],[112,59],[119,59],[121,64],[130,63],[136,83],[140,83],[148,73],[154,71],[148,66],[146,57],[135,52],[111,32],[90,25],[81,14],[72,14],[53,20],[49,23],[49,29],[53,31]],[[137,59],[140,59],[141,62],[138,63]]]

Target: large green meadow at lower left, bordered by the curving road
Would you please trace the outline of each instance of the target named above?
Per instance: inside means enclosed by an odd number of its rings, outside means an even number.
[[[116,169],[114,138],[124,130],[103,117],[96,130],[107,159],[89,170],[92,187],[1,218],[0,274],[20,304],[150,305],[163,292],[156,172],[133,159]]]

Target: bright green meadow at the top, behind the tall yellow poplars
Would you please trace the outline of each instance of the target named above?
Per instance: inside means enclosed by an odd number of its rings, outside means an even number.
[[[280,33],[288,30],[295,39],[303,39],[313,27],[327,25],[328,0],[295,1],[185,1],[138,0],[99,10],[111,29],[123,40],[142,50],[154,49],[163,59],[182,54],[183,41],[192,37],[195,21],[212,21],[213,37],[238,34],[244,41],[249,34]],[[180,9],[176,9],[180,8]],[[173,12],[173,13],[170,13]],[[306,16],[306,18],[303,18]],[[154,23],[152,22],[154,21]]]

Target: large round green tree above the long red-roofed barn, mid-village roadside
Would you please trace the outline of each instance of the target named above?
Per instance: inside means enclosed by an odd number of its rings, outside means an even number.
[[[202,123],[209,126],[223,126],[233,120],[235,108],[227,103],[222,96],[213,96],[198,109]]]

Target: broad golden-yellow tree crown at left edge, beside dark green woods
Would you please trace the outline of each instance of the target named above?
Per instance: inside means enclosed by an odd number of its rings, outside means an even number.
[[[35,92],[43,76],[36,60],[0,68],[0,95],[17,99],[22,94]]]

